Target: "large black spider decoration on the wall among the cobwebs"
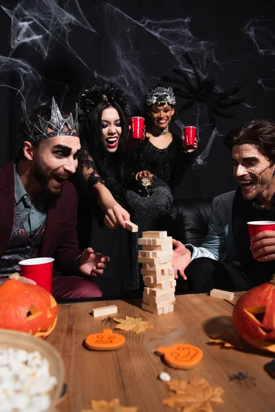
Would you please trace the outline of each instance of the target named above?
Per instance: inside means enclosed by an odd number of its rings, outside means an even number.
[[[177,67],[174,67],[172,72],[176,76],[179,76],[179,78],[172,78],[166,75],[162,78],[159,84],[162,84],[162,82],[175,84],[175,86],[173,86],[175,95],[179,98],[188,100],[188,102],[183,104],[179,109],[178,117],[181,117],[181,114],[186,108],[192,107],[196,102],[205,104],[208,110],[210,123],[214,129],[216,127],[216,116],[225,118],[234,116],[232,111],[226,111],[226,109],[245,101],[245,98],[236,96],[241,90],[241,87],[233,87],[232,89],[218,91],[214,78],[210,78],[209,76],[202,78],[188,53],[184,54],[184,58],[192,67],[196,84],[192,84],[186,72]],[[183,78],[183,80],[180,78]]]

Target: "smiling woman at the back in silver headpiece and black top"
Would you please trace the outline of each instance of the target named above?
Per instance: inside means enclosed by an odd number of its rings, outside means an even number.
[[[146,95],[146,108],[153,126],[139,146],[132,150],[131,163],[135,176],[148,174],[148,170],[162,179],[171,190],[181,182],[190,165],[188,153],[197,149],[185,145],[184,138],[170,133],[169,124],[175,114],[175,95],[173,89],[157,87]]]

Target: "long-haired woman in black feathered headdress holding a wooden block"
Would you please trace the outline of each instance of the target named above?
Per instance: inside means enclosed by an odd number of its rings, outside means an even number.
[[[111,83],[80,93],[80,140],[84,148],[80,175],[86,191],[80,192],[78,234],[82,247],[89,242],[102,253],[108,251],[110,266],[95,278],[104,296],[121,295],[133,284],[129,238],[122,207],[127,179],[126,116],[129,105],[124,93]],[[112,229],[112,230],[111,230]]]

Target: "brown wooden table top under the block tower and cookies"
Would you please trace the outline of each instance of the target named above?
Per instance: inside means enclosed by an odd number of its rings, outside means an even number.
[[[236,299],[230,302],[205,294],[179,295],[174,312],[161,316],[142,310],[139,299],[59,305],[58,323],[47,338],[61,353],[66,369],[67,395],[56,411],[80,412],[91,409],[92,399],[113,398],[119,398],[125,407],[138,407],[138,412],[179,411],[162,405],[162,399],[168,396],[166,384],[157,379],[162,371],[167,371],[172,380],[188,381],[199,376],[210,385],[223,387],[224,403],[214,405],[214,411],[275,411],[275,380],[263,369],[272,361],[270,354],[207,344],[209,334],[232,330]],[[125,336],[124,347],[110,352],[87,350],[83,347],[85,336],[104,328],[104,317],[92,317],[91,308],[108,305],[118,306],[119,318],[142,317],[155,328],[140,334],[115,330]],[[201,363],[190,371],[166,366],[154,351],[175,343],[199,346],[203,350]],[[239,371],[256,377],[256,387],[229,381],[228,375]]]

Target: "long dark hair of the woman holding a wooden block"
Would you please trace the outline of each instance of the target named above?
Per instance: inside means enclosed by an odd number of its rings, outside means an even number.
[[[114,153],[107,151],[106,142],[102,133],[102,112],[105,108],[113,107],[118,111],[121,124],[121,135],[118,149]],[[94,110],[80,117],[80,140],[87,148],[94,160],[96,171],[105,181],[105,185],[113,196],[121,201],[126,181],[126,146],[128,128],[122,108],[116,102],[102,100]]]

